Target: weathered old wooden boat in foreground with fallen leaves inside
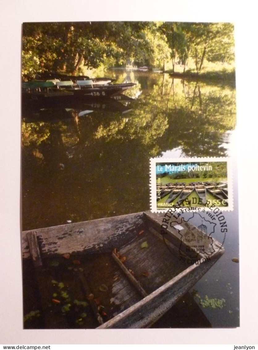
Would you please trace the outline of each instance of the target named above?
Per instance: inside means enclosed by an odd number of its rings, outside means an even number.
[[[196,235],[198,229],[181,223],[181,235],[168,228],[164,236],[160,234],[163,218],[163,214],[140,212],[22,232],[23,260],[34,263],[45,328],[76,328],[66,311],[81,298],[80,303],[88,303],[87,317],[102,329],[149,327],[166,313],[213,266],[224,248],[213,239],[208,244],[209,259],[198,253],[205,263],[192,263],[188,242],[181,238],[189,227]],[[67,253],[69,260],[63,258]],[[103,256],[106,260],[101,260]],[[58,266],[49,264],[53,258],[59,259]],[[78,261],[79,271],[70,272],[70,267],[62,265],[77,267]],[[51,301],[52,284],[59,281],[65,281],[69,304],[65,297]]]

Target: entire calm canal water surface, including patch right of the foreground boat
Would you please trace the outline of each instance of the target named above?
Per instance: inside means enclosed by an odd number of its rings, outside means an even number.
[[[125,93],[134,100],[22,109],[22,230],[149,210],[151,157],[234,153],[234,82],[122,70],[106,76],[137,83]],[[192,290],[196,302],[208,298],[200,308],[212,327],[239,324],[236,181],[225,254]]]

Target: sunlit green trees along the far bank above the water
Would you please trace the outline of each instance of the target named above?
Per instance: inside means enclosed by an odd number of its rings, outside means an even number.
[[[22,77],[146,66],[227,78],[234,76],[233,30],[230,23],[24,23]]]

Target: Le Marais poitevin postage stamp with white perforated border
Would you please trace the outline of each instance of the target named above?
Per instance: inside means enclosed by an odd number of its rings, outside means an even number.
[[[151,158],[150,178],[152,212],[233,210],[230,158]]]

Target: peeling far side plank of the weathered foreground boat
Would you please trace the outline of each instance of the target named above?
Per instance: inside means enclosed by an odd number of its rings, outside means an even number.
[[[34,230],[42,257],[48,254],[112,251],[130,241],[144,226],[143,213],[122,215]],[[27,233],[22,232],[23,258],[30,256]]]

